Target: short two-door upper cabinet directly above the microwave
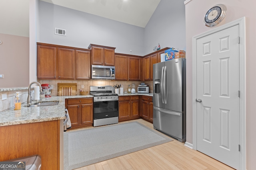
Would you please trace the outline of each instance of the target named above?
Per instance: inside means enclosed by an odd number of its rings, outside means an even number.
[[[93,65],[115,65],[115,47],[106,47],[101,45],[90,44],[88,49],[92,50]]]

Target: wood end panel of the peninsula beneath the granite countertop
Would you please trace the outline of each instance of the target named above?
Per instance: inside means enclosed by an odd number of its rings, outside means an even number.
[[[42,170],[60,169],[60,120],[0,127],[0,161],[39,154]]]

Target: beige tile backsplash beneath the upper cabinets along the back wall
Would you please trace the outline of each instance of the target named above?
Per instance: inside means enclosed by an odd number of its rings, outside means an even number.
[[[90,91],[90,86],[114,86],[116,84],[122,84],[124,91],[128,90],[128,85],[132,83],[135,84],[136,92],[137,87],[142,81],[116,81],[116,80],[38,80],[40,84],[50,84],[53,85],[51,96],[58,96],[58,83],[76,83],[77,84],[77,95],[80,95],[80,89],[84,91]],[[145,84],[148,84],[150,93],[153,92],[152,81],[145,81]],[[84,85],[84,88],[82,88]]]

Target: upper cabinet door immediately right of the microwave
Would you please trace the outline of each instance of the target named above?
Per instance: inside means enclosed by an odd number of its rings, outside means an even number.
[[[128,80],[128,57],[115,55],[116,80]]]

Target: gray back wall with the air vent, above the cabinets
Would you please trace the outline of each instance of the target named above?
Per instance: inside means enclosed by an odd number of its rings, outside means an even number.
[[[116,47],[116,53],[144,55],[144,28],[39,1],[38,42],[88,48],[90,43]],[[66,29],[55,35],[54,27]],[[132,50],[132,53],[130,52]]]

